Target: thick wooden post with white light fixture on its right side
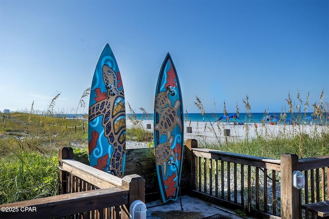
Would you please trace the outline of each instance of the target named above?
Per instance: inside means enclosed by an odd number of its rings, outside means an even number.
[[[299,203],[300,190],[293,187],[293,171],[298,170],[296,154],[281,155],[281,218],[301,218]]]

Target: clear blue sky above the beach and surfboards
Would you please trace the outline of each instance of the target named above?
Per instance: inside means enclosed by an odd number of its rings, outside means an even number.
[[[328,1],[0,0],[0,110],[46,110],[61,92],[54,110],[75,112],[107,43],[137,113],[153,113],[167,52],[189,113],[195,95],[219,113],[245,112],[246,95],[254,113],[298,91],[309,112],[322,90],[329,102]]]

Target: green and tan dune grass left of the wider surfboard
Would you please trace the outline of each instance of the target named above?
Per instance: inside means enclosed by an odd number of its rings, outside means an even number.
[[[27,113],[1,120],[0,204],[56,195],[58,150],[87,141],[84,122]]]

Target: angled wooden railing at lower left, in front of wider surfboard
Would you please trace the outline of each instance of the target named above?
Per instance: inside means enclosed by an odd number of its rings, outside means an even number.
[[[59,151],[60,195],[0,205],[0,218],[129,218],[130,204],[145,202],[145,180],[122,179],[72,160],[72,148]]]

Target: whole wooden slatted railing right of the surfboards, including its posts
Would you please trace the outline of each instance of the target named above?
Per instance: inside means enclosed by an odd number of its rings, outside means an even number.
[[[275,160],[197,148],[196,140],[186,146],[190,189],[204,200],[258,218],[306,218],[302,204],[328,200],[329,156],[298,160],[283,154]],[[294,170],[305,174],[305,188],[293,187]]]

